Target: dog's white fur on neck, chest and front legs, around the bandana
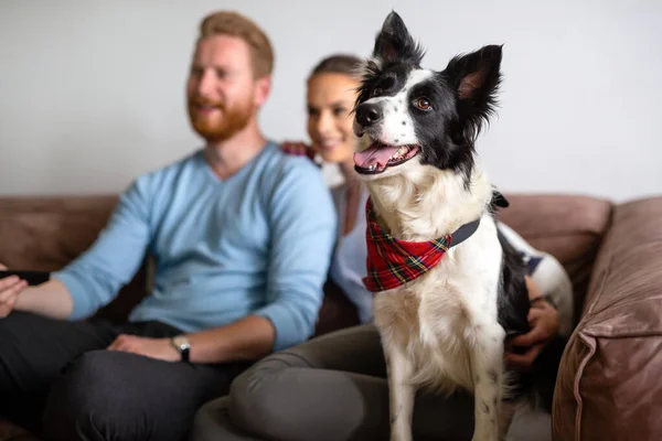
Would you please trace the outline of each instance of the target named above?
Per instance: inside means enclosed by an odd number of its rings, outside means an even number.
[[[502,248],[479,164],[469,185],[458,173],[413,161],[370,182],[375,213],[403,240],[430,240],[480,217],[480,226],[427,273],[380,292],[375,325],[386,356],[392,440],[412,438],[415,390],[458,387],[474,396],[474,440],[496,440],[503,418],[503,341],[498,321]],[[386,171],[386,173],[388,170]],[[404,178],[406,176],[406,178]]]

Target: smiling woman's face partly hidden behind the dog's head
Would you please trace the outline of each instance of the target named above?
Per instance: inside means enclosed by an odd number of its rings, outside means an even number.
[[[352,160],[356,137],[350,111],[357,87],[346,74],[317,74],[308,82],[308,135],[325,162]]]

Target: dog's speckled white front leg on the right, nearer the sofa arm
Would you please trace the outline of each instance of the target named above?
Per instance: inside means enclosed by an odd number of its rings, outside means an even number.
[[[503,329],[498,324],[474,326],[471,366],[474,381],[472,441],[498,441],[503,395]]]

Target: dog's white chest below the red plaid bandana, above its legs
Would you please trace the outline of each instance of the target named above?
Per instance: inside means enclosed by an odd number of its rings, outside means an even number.
[[[451,392],[459,386],[473,392],[471,353],[479,344],[503,341],[495,323],[500,267],[495,225],[484,215],[471,238],[435,268],[375,298],[375,324],[384,344],[399,347],[412,362],[415,387]],[[487,341],[485,332],[491,334]]]

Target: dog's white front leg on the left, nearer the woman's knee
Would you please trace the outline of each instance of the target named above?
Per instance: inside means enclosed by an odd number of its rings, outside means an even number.
[[[393,344],[384,344],[391,412],[391,441],[412,440],[412,417],[415,389],[414,366],[405,353]]]

